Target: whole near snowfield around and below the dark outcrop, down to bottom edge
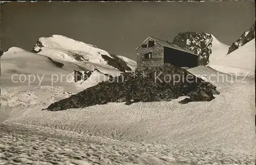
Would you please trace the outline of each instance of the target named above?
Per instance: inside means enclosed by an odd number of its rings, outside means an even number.
[[[218,73],[206,66],[188,71],[205,73],[205,80]],[[59,112],[41,109],[70,97],[73,93],[67,91],[74,88],[1,87],[0,147],[5,152],[0,161],[16,161],[8,156],[12,151],[26,163],[41,155],[39,164],[251,164],[255,161],[255,86],[252,78],[244,81],[217,82],[221,93],[210,102],[179,104],[181,97]]]

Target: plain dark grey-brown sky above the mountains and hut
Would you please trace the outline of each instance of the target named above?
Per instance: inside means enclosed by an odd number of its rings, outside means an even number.
[[[40,37],[63,35],[136,60],[148,37],[172,41],[204,32],[231,45],[255,22],[253,1],[11,2],[1,4],[1,49],[31,51]]]

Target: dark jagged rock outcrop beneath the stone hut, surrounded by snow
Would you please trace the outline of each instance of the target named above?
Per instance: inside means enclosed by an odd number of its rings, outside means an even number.
[[[171,101],[179,96],[188,96],[180,103],[191,101],[211,101],[219,94],[209,82],[189,73],[185,69],[170,65],[143,68],[135,72],[124,72],[108,81],[82,92],[52,103],[49,111],[62,111],[70,108],[87,107],[108,102]]]

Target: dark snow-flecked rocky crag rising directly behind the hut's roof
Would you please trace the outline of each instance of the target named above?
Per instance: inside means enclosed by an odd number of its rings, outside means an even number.
[[[212,36],[206,33],[180,32],[172,43],[198,54],[198,65],[207,65],[212,52],[211,42]]]

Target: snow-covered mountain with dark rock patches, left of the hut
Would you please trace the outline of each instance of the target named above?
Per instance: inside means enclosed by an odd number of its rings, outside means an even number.
[[[92,65],[112,67],[119,71],[131,71],[135,69],[130,68],[125,60],[111,52],[62,35],[39,38],[32,52],[48,56],[55,60],[90,63]]]

